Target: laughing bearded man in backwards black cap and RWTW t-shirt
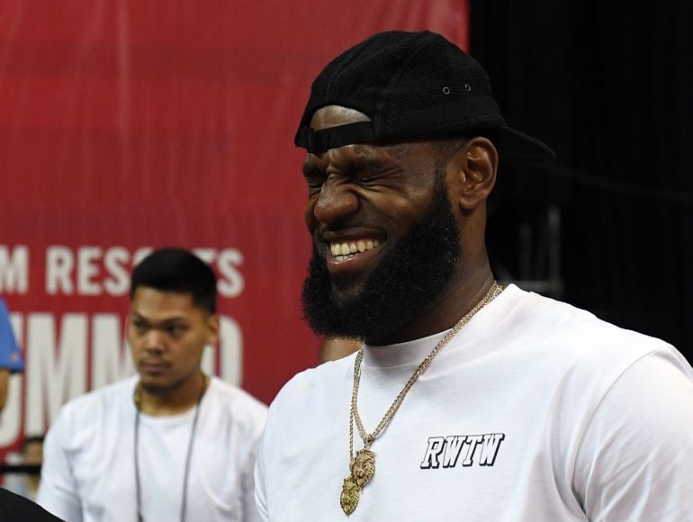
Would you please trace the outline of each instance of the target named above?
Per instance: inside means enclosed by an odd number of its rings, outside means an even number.
[[[265,520],[693,520],[693,369],[670,345],[494,281],[500,163],[547,161],[481,65],[376,34],[312,85],[296,144],[303,308],[356,355],[297,375],[256,467]]]

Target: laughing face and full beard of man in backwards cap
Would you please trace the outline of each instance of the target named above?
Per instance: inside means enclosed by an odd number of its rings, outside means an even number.
[[[335,112],[346,121],[358,117],[355,111],[325,108],[313,121],[320,126],[320,116]],[[325,175],[320,174],[325,172],[324,166],[318,157],[311,155],[307,159],[311,203],[306,221],[313,232],[314,248],[303,302],[316,332],[338,331],[342,336],[377,341],[424,309],[455,274],[460,238],[447,198],[445,174],[435,163],[408,166],[406,170],[402,166],[403,161],[411,163],[419,149],[425,148],[427,144],[410,144],[406,149],[392,146],[377,149],[376,154],[376,149],[355,146],[339,149],[339,156],[333,154],[336,165],[344,163],[343,176],[357,175],[365,180],[365,187],[359,187],[363,203],[356,202],[356,194],[348,193],[347,201],[331,201],[328,191],[339,190],[338,186],[333,188],[331,181],[325,183]],[[352,155],[360,156],[356,167],[349,164]],[[357,171],[347,173],[352,168]],[[434,174],[426,175],[426,168]],[[368,186],[369,171],[375,190]],[[389,175],[375,185],[379,172]],[[402,195],[400,186],[406,187],[410,178],[416,177],[428,177],[432,184],[419,183],[419,193]],[[386,187],[391,190],[383,190]],[[348,201],[352,198],[355,201]],[[366,208],[358,222],[342,228],[338,224],[342,206],[349,204]]]

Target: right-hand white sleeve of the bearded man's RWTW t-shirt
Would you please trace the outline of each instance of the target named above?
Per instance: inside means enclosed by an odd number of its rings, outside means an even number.
[[[609,389],[583,436],[573,481],[592,522],[693,517],[693,371],[660,350]]]

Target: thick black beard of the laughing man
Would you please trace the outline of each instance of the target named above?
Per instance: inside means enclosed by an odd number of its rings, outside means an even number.
[[[445,185],[438,182],[435,190],[421,220],[383,256],[356,293],[338,295],[350,278],[330,275],[313,243],[302,305],[304,319],[316,334],[365,342],[387,338],[443,292],[455,276],[462,247]]]

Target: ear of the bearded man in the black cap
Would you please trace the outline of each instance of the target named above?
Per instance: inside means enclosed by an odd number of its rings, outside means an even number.
[[[491,194],[496,184],[498,151],[489,139],[468,139],[447,164],[447,179],[454,180],[451,201],[462,211],[473,211]]]

